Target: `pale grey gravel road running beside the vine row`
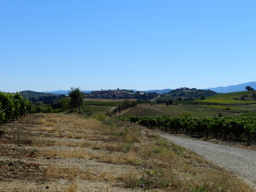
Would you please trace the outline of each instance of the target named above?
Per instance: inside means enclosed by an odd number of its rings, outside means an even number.
[[[192,138],[176,137],[162,132],[157,132],[157,134],[204,156],[228,171],[236,173],[238,177],[247,181],[254,189],[256,188],[256,151],[218,145]]]

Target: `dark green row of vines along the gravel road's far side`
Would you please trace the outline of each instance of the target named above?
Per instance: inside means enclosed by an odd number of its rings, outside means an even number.
[[[256,117],[129,116],[121,117],[120,120],[138,123],[148,128],[198,135],[207,139],[223,137],[226,140],[229,137],[240,140],[246,137],[248,145],[251,144],[251,140],[256,139]]]

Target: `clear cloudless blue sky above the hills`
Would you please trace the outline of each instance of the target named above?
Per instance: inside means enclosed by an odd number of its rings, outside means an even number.
[[[255,0],[0,0],[0,90],[256,81]]]

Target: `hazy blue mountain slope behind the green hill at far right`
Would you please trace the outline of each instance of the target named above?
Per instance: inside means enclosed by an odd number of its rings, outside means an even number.
[[[246,86],[251,86],[254,90],[256,90],[256,82],[255,81],[238,84],[238,85],[229,85],[227,87],[206,88],[205,90],[210,89],[217,93],[231,93],[231,92],[246,91],[245,90]]]

